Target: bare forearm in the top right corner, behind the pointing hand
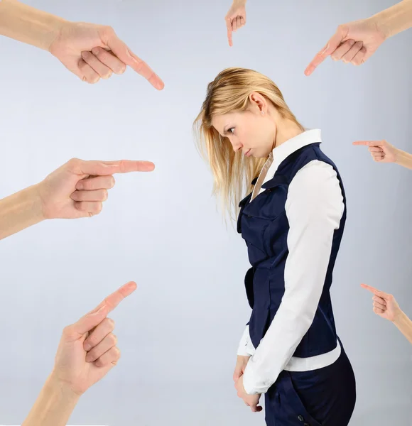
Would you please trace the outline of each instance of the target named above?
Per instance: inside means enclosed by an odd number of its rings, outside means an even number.
[[[412,0],[403,0],[371,18],[386,37],[401,33],[412,26]]]

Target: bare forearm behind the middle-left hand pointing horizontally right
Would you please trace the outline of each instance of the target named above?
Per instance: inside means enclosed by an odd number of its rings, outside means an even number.
[[[0,200],[0,240],[44,219],[36,185]]]

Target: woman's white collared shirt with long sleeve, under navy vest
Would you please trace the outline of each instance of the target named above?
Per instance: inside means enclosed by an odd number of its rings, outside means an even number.
[[[319,129],[300,133],[273,149],[254,187],[251,200],[273,178],[289,155],[310,143],[321,142]],[[315,317],[330,262],[332,238],[339,229],[345,205],[337,173],[320,160],[310,161],[291,181],[286,200],[289,222],[288,258],[285,264],[285,293],[268,331],[255,349],[249,327],[242,335],[238,355],[251,356],[244,371],[246,393],[266,393],[279,373],[310,371],[333,364],[341,347],[326,354],[292,356]],[[287,324],[287,326],[286,326]]]

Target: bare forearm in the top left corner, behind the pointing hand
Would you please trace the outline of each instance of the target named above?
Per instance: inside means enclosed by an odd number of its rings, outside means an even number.
[[[16,0],[0,0],[0,35],[48,50],[65,20]]]

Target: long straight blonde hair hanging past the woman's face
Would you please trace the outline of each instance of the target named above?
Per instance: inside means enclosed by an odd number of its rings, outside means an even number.
[[[244,158],[242,151],[234,152],[229,138],[220,136],[212,126],[212,118],[249,107],[249,94],[258,92],[276,107],[285,119],[294,121],[302,130],[281,91],[269,77],[245,68],[227,68],[207,85],[205,102],[193,125],[197,133],[197,147],[209,161],[214,177],[213,194],[217,195],[223,212],[235,219],[239,201],[253,190],[251,181],[266,162],[265,158]],[[245,188],[246,187],[246,188]]]

